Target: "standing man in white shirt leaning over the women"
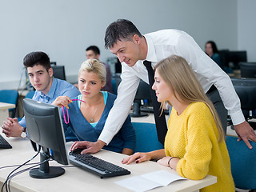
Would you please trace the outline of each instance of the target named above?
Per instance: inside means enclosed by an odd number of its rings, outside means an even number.
[[[239,137],[238,140],[243,140],[250,149],[252,146],[248,139],[256,142],[256,134],[249,123],[245,121],[240,100],[229,76],[204,53],[189,34],[181,30],[159,30],[142,35],[132,22],[118,19],[106,29],[105,46],[122,63],[122,82],[118,86],[118,97],[106,119],[102,134],[97,142],[88,142],[86,152],[98,152],[102,146],[111,141],[125,121],[124,117],[130,112],[140,79],[149,83],[143,61],[150,61],[154,67],[157,62],[173,54],[186,59],[198,77],[203,90],[212,101],[213,98],[210,94],[214,93],[214,99],[219,100],[218,106],[224,104],[230,113],[234,129]],[[218,94],[217,97],[216,94]],[[226,130],[226,112],[224,107],[220,108],[216,110],[224,124],[224,130]]]

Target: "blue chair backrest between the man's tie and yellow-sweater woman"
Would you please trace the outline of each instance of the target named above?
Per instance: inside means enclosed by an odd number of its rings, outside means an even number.
[[[155,124],[148,122],[132,122],[136,134],[136,147],[134,152],[149,152],[163,149],[158,141]]]

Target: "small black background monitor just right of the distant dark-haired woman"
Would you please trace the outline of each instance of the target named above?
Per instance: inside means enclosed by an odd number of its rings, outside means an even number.
[[[233,63],[234,69],[239,69],[239,62],[247,62],[246,50],[228,51],[227,59],[229,63]]]

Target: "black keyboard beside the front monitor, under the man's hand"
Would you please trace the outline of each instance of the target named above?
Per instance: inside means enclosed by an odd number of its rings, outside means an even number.
[[[116,166],[111,162],[106,162],[101,158],[96,158],[91,154],[74,154],[70,152],[69,158],[72,164],[97,174],[101,178],[130,174],[129,170]]]

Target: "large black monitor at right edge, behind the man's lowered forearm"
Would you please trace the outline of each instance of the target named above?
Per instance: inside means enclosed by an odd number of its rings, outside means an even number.
[[[255,130],[256,123],[249,120],[256,118],[256,78],[231,78],[231,81],[240,98],[242,113]]]

